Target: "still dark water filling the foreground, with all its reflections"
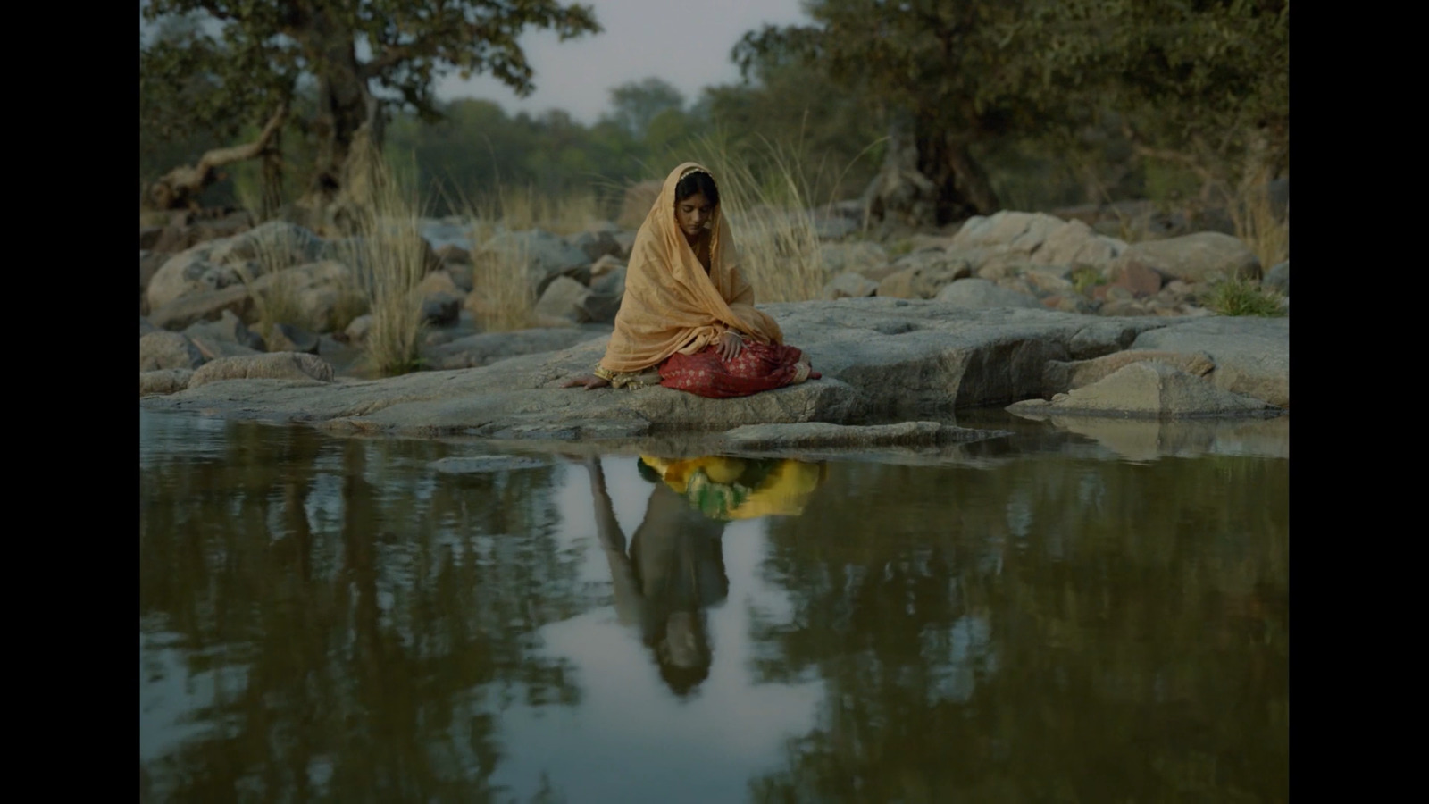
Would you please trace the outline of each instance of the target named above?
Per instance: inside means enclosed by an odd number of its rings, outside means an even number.
[[[1289,425],[1198,426],[503,465],[141,411],[140,798],[1285,801]]]

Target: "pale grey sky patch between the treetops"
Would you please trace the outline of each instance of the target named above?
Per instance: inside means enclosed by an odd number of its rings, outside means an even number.
[[[507,113],[564,109],[593,123],[610,106],[610,87],[657,76],[693,102],[702,87],[739,80],[729,54],[745,31],[770,24],[807,23],[800,0],[583,0],[603,33],[559,41],[550,31],[522,37],[536,72],[536,92],[516,93],[487,76],[463,82],[454,73],[437,82],[442,100],[477,97]]]

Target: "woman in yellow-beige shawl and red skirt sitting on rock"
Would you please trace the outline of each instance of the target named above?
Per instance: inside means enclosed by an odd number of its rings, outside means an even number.
[[[680,165],[636,235],[604,358],[593,376],[564,386],[663,385],[727,398],[819,379],[775,319],[755,309],[735,260],[714,177]]]

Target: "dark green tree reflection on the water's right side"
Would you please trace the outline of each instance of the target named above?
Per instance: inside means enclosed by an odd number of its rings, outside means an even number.
[[[765,801],[1288,798],[1289,479],[1250,458],[837,465],[769,526]]]

